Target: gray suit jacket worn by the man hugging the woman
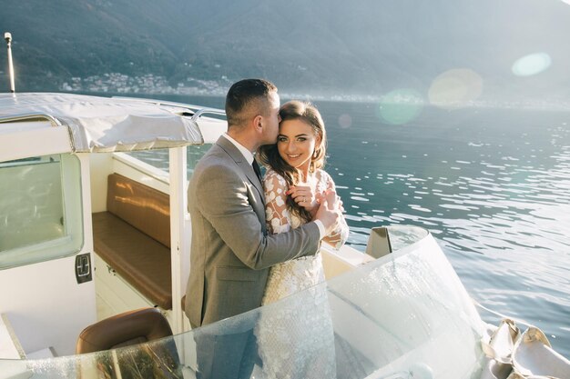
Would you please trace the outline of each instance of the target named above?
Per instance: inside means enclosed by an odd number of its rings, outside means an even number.
[[[315,223],[268,234],[260,180],[223,136],[196,165],[188,210],[192,244],[185,313],[192,327],[259,307],[271,265],[319,248]]]

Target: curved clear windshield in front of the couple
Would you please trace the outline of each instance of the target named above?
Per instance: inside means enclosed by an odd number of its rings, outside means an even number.
[[[212,362],[209,346],[219,344],[222,366],[248,362],[255,377],[287,371],[292,377],[460,379],[478,377],[482,333],[473,303],[428,234],[350,273],[185,334],[93,354],[0,361],[0,372],[194,377],[208,367],[200,363]],[[246,353],[244,336],[257,338]]]

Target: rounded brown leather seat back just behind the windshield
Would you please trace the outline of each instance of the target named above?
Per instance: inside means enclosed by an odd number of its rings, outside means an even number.
[[[168,335],[172,330],[164,315],[157,308],[142,308],[87,326],[77,338],[76,354],[141,344]]]

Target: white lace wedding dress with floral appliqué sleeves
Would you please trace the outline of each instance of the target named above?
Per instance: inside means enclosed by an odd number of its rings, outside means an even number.
[[[331,176],[322,170],[311,174],[308,183],[316,192],[334,189]],[[290,214],[285,204],[287,186],[283,177],[269,170],[263,185],[270,232],[284,233],[299,227],[303,221]],[[348,234],[348,225],[341,217],[336,230],[323,241],[339,249]],[[261,304],[267,305],[310,289],[291,298],[285,308],[264,308],[256,329],[264,378],[336,377],[331,313],[326,286],[322,282],[321,253],[271,267]]]

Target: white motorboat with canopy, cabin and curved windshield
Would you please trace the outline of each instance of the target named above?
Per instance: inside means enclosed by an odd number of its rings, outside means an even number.
[[[0,94],[0,378],[192,378],[197,336],[255,328],[260,318],[308,303],[315,288],[189,327],[181,303],[190,250],[186,185],[202,146],[226,128],[223,111],[196,105]],[[168,171],[137,159],[155,150],[168,154]],[[151,225],[140,224],[145,219]],[[499,349],[490,327],[429,231],[380,226],[366,254],[351,246],[323,246],[321,254],[327,281],[318,286],[327,294],[339,378],[491,373],[485,346]],[[167,283],[152,278],[158,274],[148,274],[145,262],[152,273],[166,270]],[[158,310],[172,335],[76,354],[84,329],[139,308]],[[539,356],[570,373],[543,337],[534,338]],[[506,364],[524,365],[523,355],[528,349]],[[262,377],[259,366],[254,377]]]

